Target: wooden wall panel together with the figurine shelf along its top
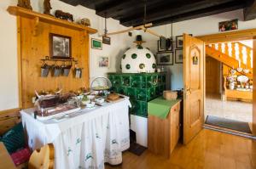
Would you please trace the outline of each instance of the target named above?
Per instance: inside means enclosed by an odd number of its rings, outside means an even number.
[[[17,16],[18,70],[20,108],[32,107],[34,90],[77,91],[89,86],[89,35],[96,29],[56,19],[26,8],[9,6],[9,14]],[[84,68],[81,79],[73,77],[73,68],[68,77],[40,76],[40,67],[45,56],[49,56],[49,33],[72,37],[72,57]],[[83,37],[83,40],[81,40]],[[53,65],[53,62],[49,62]],[[61,65],[61,63],[59,63]]]

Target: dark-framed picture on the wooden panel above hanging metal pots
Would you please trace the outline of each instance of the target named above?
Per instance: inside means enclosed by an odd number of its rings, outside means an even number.
[[[71,37],[50,33],[49,55],[53,59],[71,59]]]

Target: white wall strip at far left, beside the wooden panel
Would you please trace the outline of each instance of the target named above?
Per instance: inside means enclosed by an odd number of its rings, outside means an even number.
[[[0,110],[18,107],[16,20],[6,12],[15,1],[0,2]]]

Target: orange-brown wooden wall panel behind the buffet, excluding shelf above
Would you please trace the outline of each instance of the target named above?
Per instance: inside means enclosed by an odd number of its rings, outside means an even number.
[[[63,88],[63,92],[77,91],[80,87],[89,87],[89,34],[84,33],[81,41],[81,31],[68,29],[59,25],[40,22],[38,33],[34,36],[34,20],[21,18],[21,71],[22,71],[22,108],[32,107],[34,90],[55,90]],[[47,78],[40,76],[40,66],[44,56],[49,56],[49,33],[72,37],[72,56],[79,61],[79,67],[84,68],[81,79],[73,77],[73,68],[68,77]],[[54,65],[54,62],[48,62]],[[61,65],[61,62],[57,62]]]

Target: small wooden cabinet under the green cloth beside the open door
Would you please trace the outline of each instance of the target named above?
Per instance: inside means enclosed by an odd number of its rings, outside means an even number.
[[[181,102],[173,105],[167,118],[148,115],[148,150],[170,158],[180,137]]]

